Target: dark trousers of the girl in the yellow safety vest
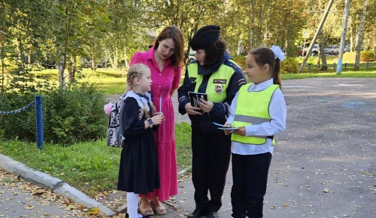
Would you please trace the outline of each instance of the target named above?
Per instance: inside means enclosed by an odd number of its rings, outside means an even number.
[[[257,155],[232,154],[232,217],[263,217],[263,202],[271,157],[270,152]]]

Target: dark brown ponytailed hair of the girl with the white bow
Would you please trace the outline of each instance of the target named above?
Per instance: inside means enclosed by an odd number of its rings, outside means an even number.
[[[279,58],[275,57],[274,52],[267,47],[257,47],[251,49],[248,55],[253,55],[255,62],[260,67],[266,63],[269,64],[269,73],[273,78],[274,84],[279,85],[280,89],[282,89],[280,76],[281,62]]]

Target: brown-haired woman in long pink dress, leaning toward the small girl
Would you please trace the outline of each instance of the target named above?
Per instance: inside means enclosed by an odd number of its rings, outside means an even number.
[[[183,55],[183,33],[179,27],[171,25],[158,35],[154,47],[149,51],[137,52],[130,61],[130,65],[143,63],[150,68],[153,80],[151,88],[154,96],[153,104],[157,111],[162,111],[165,116],[165,121],[154,135],[157,144],[160,188],[148,195],[140,195],[140,211],[144,215],[153,215],[154,212],[158,215],[166,214],[166,208],[160,202],[177,194],[175,118],[171,96],[179,87]]]

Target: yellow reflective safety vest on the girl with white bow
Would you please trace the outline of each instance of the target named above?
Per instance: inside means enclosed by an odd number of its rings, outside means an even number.
[[[248,88],[251,84],[244,85],[239,89],[233,124],[234,127],[270,122],[269,104],[273,93],[279,89],[279,85],[273,84],[259,92],[248,92]],[[264,144],[267,138],[273,137],[231,135],[232,141],[245,144]],[[274,139],[272,144],[275,144]]]

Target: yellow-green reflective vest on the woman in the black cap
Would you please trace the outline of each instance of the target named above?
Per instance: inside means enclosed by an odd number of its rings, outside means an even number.
[[[233,60],[228,60],[231,64],[238,66]],[[198,74],[198,63],[190,63],[187,66],[188,68],[188,77],[196,78],[192,80],[193,83],[196,83],[194,92],[198,92],[201,83],[203,82],[203,75]],[[240,68],[240,67],[239,67]],[[210,75],[210,78],[207,82],[205,93],[207,94],[207,99],[212,102],[223,102],[226,97],[227,86],[230,82],[231,76],[233,76],[235,70],[231,66],[227,66],[222,63],[219,69]]]

